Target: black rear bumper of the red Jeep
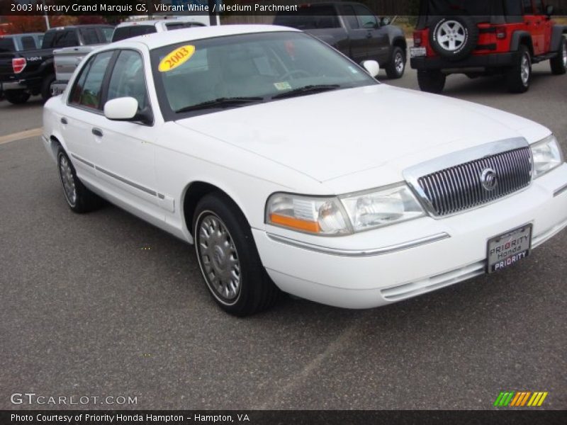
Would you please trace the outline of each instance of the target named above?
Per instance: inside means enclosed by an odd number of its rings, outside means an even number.
[[[490,69],[511,67],[516,60],[517,52],[494,53],[492,55],[471,55],[464,60],[447,60],[442,57],[412,57],[413,69],[437,69],[450,73],[466,69]]]

